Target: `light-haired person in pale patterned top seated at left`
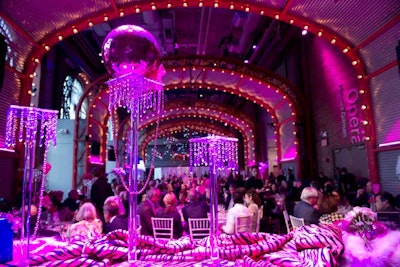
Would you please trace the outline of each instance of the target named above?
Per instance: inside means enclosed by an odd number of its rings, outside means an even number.
[[[91,202],[86,202],[79,207],[76,214],[76,223],[67,229],[67,237],[82,237],[84,239],[95,240],[101,237],[103,223],[97,216],[96,207]]]

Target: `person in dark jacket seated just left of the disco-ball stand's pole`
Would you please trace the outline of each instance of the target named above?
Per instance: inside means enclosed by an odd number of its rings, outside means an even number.
[[[107,234],[117,229],[128,230],[128,218],[118,196],[108,197],[104,201],[103,213],[105,221],[103,233]]]

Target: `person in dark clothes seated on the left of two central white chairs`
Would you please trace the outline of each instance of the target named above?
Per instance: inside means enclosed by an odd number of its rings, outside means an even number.
[[[183,234],[182,218],[179,214],[176,205],[178,199],[173,192],[165,194],[163,198],[165,208],[156,212],[155,217],[157,218],[173,218],[174,219],[174,239],[178,239]]]

